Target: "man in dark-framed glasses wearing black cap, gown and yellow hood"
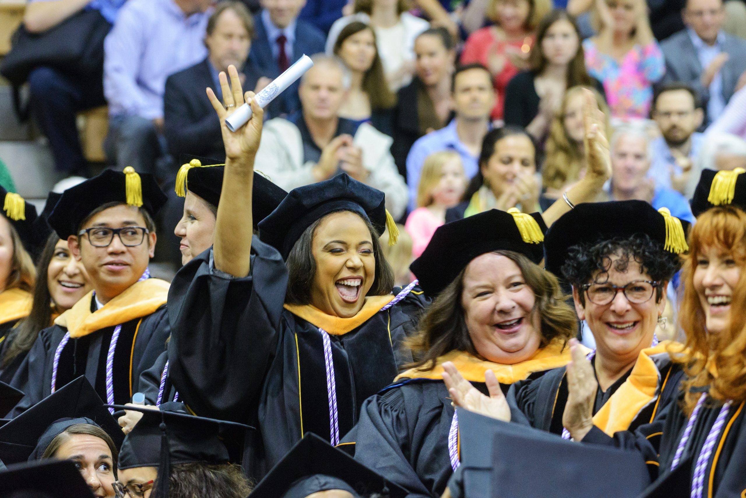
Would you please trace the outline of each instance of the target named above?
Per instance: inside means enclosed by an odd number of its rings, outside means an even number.
[[[67,189],[48,223],[83,263],[93,291],[40,332],[12,385],[15,417],[85,375],[101,399],[124,404],[166,349],[169,284],[150,278],[153,217],[166,196],[150,174],[107,170]]]

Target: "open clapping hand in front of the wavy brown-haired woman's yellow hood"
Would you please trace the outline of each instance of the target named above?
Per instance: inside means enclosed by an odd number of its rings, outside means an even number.
[[[484,374],[484,382],[487,385],[489,396],[485,396],[464,379],[451,362],[443,364],[443,382],[451,394],[454,406],[460,406],[469,412],[496,418],[504,422],[510,422],[510,406],[505,399],[500,382],[495,377],[495,372],[489,370]]]

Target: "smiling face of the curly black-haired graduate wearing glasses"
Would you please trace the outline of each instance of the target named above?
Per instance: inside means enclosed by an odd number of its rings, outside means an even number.
[[[630,282],[653,280],[640,271],[638,262],[630,259],[626,271],[620,271],[618,255],[609,256],[611,265],[606,274],[595,274],[589,283],[610,283],[626,286]],[[624,265],[621,265],[624,268]],[[661,284],[663,285],[663,284]],[[605,305],[593,303],[585,293],[585,303],[580,300],[582,290],[573,288],[575,310],[580,320],[585,320],[593,332],[598,354],[616,361],[634,362],[639,352],[650,347],[658,317],[665,309],[665,294],[656,302],[656,291],[644,303],[630,303],[623,291],[618,291]]]

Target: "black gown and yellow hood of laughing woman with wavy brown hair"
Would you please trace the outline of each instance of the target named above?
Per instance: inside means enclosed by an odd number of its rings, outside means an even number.
[[[542,351],[550,353],[550,348]],[[569,352],[565,349],[559,354],[560,351],[561,346],[551,354],[537,354],[538,359],[518,365],[496,365],[472,359],[468,353],[452,352],[439,359],[438,365],[453,361],[483,394],[487,394],[484,372],[492,368],[506,392],[510,383],[518,379],[534,379],[550,368],[566,364]],[[460,363],[463,358],[468,359]],[[354,445],[355,460],[407,489],[408,498],[440,497],[453,473],[448,434],[454,407],[442,381],[442,368],[424,374],[433,378],[416,375],[421,374],[405,372],[397,382],[366,400],[360,420],[342,444]]]

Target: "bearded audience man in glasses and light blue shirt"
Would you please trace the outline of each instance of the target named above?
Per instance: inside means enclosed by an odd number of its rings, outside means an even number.
[[[651,143],[653,164],[648,177],[656,186],[683,193],[704,142],[696,131],[704,117],[699,96],[686,83],[665,84],[653,99],[652,115],[661,136]]]

